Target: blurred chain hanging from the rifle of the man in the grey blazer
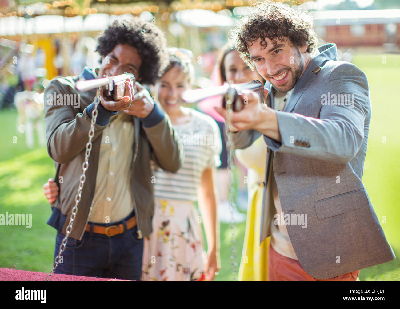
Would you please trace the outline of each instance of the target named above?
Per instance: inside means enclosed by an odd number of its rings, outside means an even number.
[[[234,165],[234,143],[232,139],[232,133],[230,132],[229,128],[231,127],[231,120],[230,117],[233,113],[233,102],[234,102],[234,97],[236,95],[236,90],[233,88],[229,89],[227,98],[226,98],[226,125],[228,127],[228,142],[226,143],[226,148],[228,150],[228,203],[230,206],[230,249],[231,249],[231,256],[230,256],[230,261],[231,261],[231,267],[232,267],[232,279],[233,281],[237,280],[237,266],[238,263],[236,262],[236,240],[235,240],[235,224],[234,224],[234,210],[236,208],[236,202],[235,202],[235,189],[234,189],[234,171],[235,171],[235,165]]]

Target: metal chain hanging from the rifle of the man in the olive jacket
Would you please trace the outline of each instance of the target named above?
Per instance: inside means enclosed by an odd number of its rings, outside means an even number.
[[[66,228],[66,235],[64,237],[64,239],[61,242],[60,245],[60,252],[58,253],[58,256],[56,256],[56,258],[54,259],[54,263],[53,263],[53,267],[52,270],[50,271],[50,273],[47,275],[46,277],[46,281],[51,281],[52,277],[53,277],[53,273],[56,270],[58,263],[60,261],[60,257],[62,252],[64,252],[65,250],[65,246],[67,244],[67,240],[68,240],[68,236],[70,235],[71,231],[72,231],[72,224],[74,223],[75,220],[75,216],[76,216],[76,212],[78,212],[78,204],[80,202],[80,198],[81,198],[81,194],[82,194],[82,188],[83,185],[85,184],[85,180],[86,180],[86,170],[89,167],[89,156],[90,156],[90,152],[92,151],[92,139],[94,136],[94,125],[96,124],[96,119],[97,119],[97,106],[99,104],[99,97],[96,97],[96,100],[94,100],[94,109],[92,111],[92,122],[90,123],[90,130],[88,133],[89,136],[89,141],[86,144],[86,152],[85,152],[85,160],[82,164],[82,175],[80,175],[79,178],[79,187],[78,187],[78,193],[75,196],[75,206],[74,208],[72,208],[72,214],[71,214],[71,219],[70,222]]]

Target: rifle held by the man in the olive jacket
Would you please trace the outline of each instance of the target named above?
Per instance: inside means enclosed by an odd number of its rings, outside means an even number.
[[[125,81],[128,78],[130,79],[134,94],[136,94],[138,92],[136,78],[132,73],[77,81],[75,88],[79,91],[101,88],[103,90],[104,99],[107,101],[118,101],[125,96]]]

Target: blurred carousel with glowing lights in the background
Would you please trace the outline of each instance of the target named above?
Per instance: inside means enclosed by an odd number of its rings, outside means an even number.
[[[6,81],[9,78],[7,66],[16,64],[15,55],[18,60],[20,57],[30,59],[28,70],[31,75],[36,68],[46,69],[46,80],[76,75],[85,65],[98,64],[96,37],[116,18],[132,16],[155,22],[166,32],[170,46],[190,48],[196,51],[197,58],[205,54],[202,60],[207,62],[207,53],[219,50],[226,42],[226,34],[235,22],[234,16],[241,13],[240,6],[251,4],[252,0],[245,3],[242,0],[0,2],[0,37],[3,38],[0,42],[0,79],[4,85],[10,83]],[[33,46],[33,50],[25,55],[18,48],[23,44]],[[201,64],[199,73],[210,73],[207,70],[212,67],[212,61],[210,65]],[[32,76],[27,80],[22,77],[24,87],[31,80]]]

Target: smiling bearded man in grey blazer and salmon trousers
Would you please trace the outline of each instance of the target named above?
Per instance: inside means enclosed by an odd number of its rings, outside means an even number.
[[[306,12],[264,2],[234,31],[242,59],[267,81],[230,118],[235,147],[268,145],[260,241],[269,281],[356,281],[395,258],[361,181],[371,103],[361,69],[316,47]],[[216,110],[224,117],[223,109]]]

